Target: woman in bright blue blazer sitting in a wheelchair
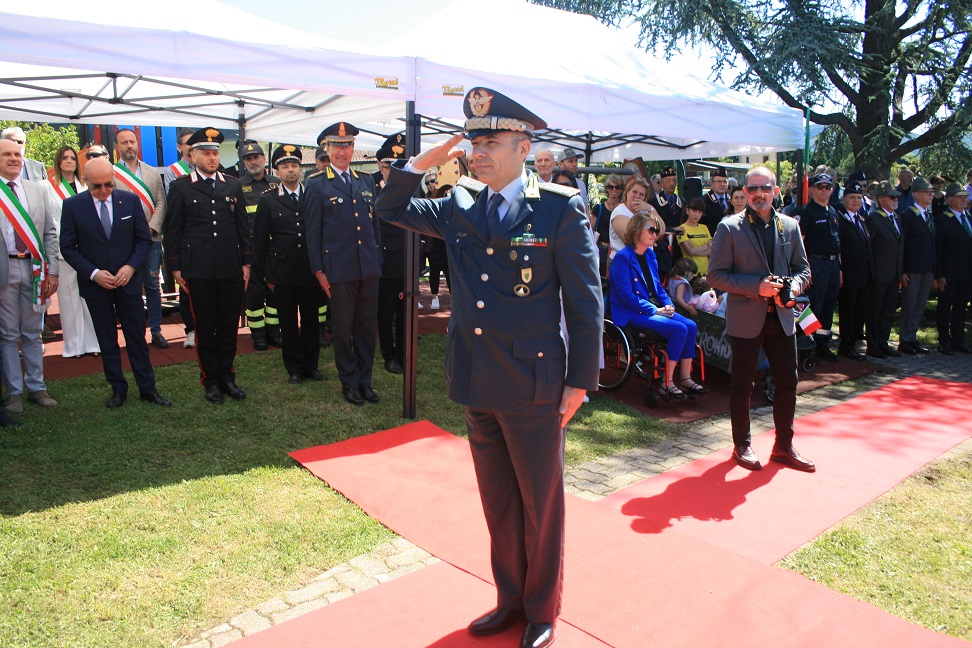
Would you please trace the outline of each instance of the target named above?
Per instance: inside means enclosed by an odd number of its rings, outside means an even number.
[[[665,232],[657,214],[637,211],[624,231],[625,247],[614,256],[611,265],[611,318],[618,326],[634,326],[654,331],[668,340],[668,364],[662,395],[681,400],[685,395],[708,393],[692,380],[695,357],[695,322],[675,312],[672,300],[658,276],[658,262],[652,246]],[[678,365],[680,380],[673,380]]]

